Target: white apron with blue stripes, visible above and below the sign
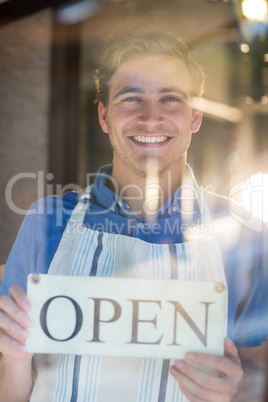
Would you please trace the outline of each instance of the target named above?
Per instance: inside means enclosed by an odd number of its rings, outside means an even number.
[[[211,222],[204,193],[196,184],[195,189],[203,223]],[[49,274],[208,280],[226,284],[213,233],[201,233],[194,241],[180,244],[151,244],[129,236],[98,232],[83,225],[89,196],[85,192],[75,207]],[[38,355],[35,359],[38,377],[31,402],[187,401],[169,374],[173,364],[170,360],[87,355]]]

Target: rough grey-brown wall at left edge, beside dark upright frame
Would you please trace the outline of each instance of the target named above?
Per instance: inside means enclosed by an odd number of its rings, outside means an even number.
[[[0,264],[23,219],[14,205],[26,210],[42,196],[33,178],[15,182],[13,207],[5,191],[15,175],[47,170],[50,25],[46,10],[0,29]]]

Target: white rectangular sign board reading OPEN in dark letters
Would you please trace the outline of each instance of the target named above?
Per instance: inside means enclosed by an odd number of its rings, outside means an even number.
[[[183,358],[223,354],[221,283],[31,275],[28,352]]]

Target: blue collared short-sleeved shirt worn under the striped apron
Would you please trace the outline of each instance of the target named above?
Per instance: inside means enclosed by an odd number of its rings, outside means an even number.
[[[99,232],[137,237],[150,243],[183,241],[180,214],[180,190],[171,194],[154,220],[138,219],[113,192],[108,183],[111,166],[102,167],[93,186],[93,199],[84,225]],[[208,194],[207,202],[214,221],[222,221],[220,245],[228,283],[228,336],[237,346],[260,345],[268,335],[267,311],[267,231],[254,231],[230,220],[226,198]],[[0,294],[8,294],[13,284],[26,290],[27,276],[47,273],[60,243],[67,221],[79,200],[68,192],[35,202],[18,233],[7,260]],[[200,219],[194,207],[193,222]]]

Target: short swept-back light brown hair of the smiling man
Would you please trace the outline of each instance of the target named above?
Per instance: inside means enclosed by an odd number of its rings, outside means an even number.
[[[110,80],[118,67],[131,56],[171,55],[182,60],[188,68],[192,81],[192,93],[202,96],[204,73],[199,64],[192,58],[185,42],[175,36],[144,32],[130,34],[115,41],[105,52],[100,68],[96,70],[95,82],[97,100],[104,106],[109,102]]]

